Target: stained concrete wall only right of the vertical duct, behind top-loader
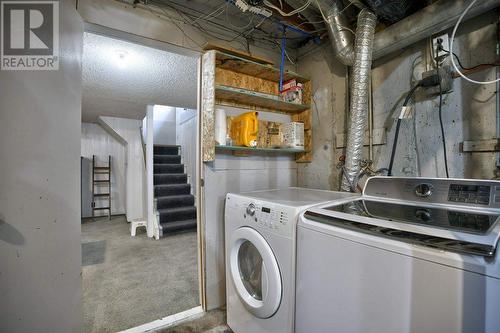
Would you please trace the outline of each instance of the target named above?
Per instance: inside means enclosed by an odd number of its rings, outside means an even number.
[[[492,11],[460,26],[454,49],[464,66],[494,62],[497,18],[498,14]],[[451,29],[446,32],[451,36]],[[399,56],[381,59],[374,64],[374,128],[387,128],[389,142],[375,149],[376,168],[389,164],[395,117],[410,89],[412,75],[420,79],[425,70],[427,52],[427,44],[422,41]],[[413,71],[412,67],[415,67]],[[471,75],[471,78],[493,80],[495,69]],[[494,153],[463,153],[460,146],[464,140],[496,137],[495,92],[495,84],[476,85],[460,78],[454,80],[453,91],[444,95],[442,114],[450,177],[490,179],[494,176]],[[438,97],[416,96],[414,117],[403,120],[401,124],[394,175],[446,176],[438,105]]]

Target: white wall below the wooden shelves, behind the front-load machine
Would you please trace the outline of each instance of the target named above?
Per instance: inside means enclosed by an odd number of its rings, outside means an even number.
[[[247,110],[224,107],[227,115]],[[259,112],[268,121],[289,122],[284,114]],[[224,202],[229,192],[247,192],[297,186],[295,156],[251,154],[236,157],[217,151],[213,163],[203,165],[205,187],[205,251],[207,306],[215,309],[226,303],[224,253]]]

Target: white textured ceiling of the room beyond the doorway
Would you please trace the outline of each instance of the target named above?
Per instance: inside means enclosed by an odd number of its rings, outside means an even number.
[[[142,119],[148,104],[196,108],[197,60],[84,34],[82,120]]]

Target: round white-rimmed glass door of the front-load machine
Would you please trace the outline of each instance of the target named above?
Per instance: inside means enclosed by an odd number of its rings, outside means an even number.
[[[281,303],[282,280],[274,253],[256,230],[237,229],[231,238],[230,269],[236,292],[258,318],[269,318]]]

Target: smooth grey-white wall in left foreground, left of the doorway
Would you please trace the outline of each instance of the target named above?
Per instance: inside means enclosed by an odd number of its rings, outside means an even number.
[[[79,333],[83,25],[60,2],[60,69],[0,71],[0,332]]]

